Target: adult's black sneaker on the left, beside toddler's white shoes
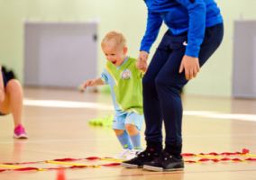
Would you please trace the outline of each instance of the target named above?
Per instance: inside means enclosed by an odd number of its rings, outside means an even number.
[[[146,162],[151,162],[153,159],[159,156],[160,153],[156,152],[153,148],[147,148],[138,154],[137,157],[134,157],[131,160],[123,161],[121,166],[127,168],[142,168]]]

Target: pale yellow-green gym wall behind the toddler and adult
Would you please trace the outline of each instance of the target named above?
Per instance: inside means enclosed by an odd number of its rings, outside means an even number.
[[[216,2],[224,14],[224,43],[201,69],[197,79],[187,85],[187,94],[232,94],[233,21],[256,19],[255,0]],[[130,55],[137,57],[145,28],[146,7],[142,0],[0,0],[0,61],[13,67],[22,81],[25,20],[98,21],[99,39],[106,31],[122,31],[128,40]],[[160,34],[163,31],[165,28]],[[100,72],[105,59],[100,51],[98,57]]]

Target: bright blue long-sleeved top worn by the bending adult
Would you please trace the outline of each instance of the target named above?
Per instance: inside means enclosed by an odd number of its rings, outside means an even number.
[[[187,31],[186,55],[198,57],[206,27],[223,23],[214,0],[144,0],[148,7],[147,28],[141,49],[149,52],[160,26],[165,23],[172,34]]]

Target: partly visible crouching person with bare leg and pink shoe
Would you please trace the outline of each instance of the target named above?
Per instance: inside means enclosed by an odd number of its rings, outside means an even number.
[[[14,138],[27,139],[28,136],[22,123],[23,88],[14,78],[12,71],[1,67],[0,75],[0,115],[12,113],[14,118]]]

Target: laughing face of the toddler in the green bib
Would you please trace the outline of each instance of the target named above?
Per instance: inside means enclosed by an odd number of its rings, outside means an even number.
[[[102,47],[105,58],[112,62],[115,67],[120,66],[126,56],[127,48],[118,47],[113,43],[105,44]]]

